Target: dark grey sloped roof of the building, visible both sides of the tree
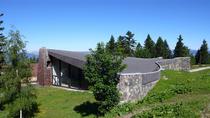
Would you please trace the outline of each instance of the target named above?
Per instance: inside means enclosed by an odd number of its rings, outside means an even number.
[[[73,52],[48,49],[48,54],[68,64],[83,69],[83,66],[86,62],[85,56],[89,54],[89,52]],[[146,73],[157,71],[159,69],[159,66],[155,63],[157,60],[159,59],[127,57],[123,61],[127,67],[121,73]]]

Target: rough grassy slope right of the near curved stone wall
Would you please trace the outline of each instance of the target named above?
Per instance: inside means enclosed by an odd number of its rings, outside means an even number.
[[[161,74],[161,80],[143,100],[118,106],[106,116],[200,117],[204,111],[210,115],[210,70],[167,70]]]

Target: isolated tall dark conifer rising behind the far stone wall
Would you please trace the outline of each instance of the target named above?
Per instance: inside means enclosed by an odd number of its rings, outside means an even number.
[[[176,47],[174,49],[174,57],[186,57],[189,56],[189,49],[182,42],[183,38],[179,35],[178,42],[176,43]]]

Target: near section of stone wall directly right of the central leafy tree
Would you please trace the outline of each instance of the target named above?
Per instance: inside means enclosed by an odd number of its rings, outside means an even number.
[[[120,75],[117,85],[121,102],[143,99],[160,79],[160,70],[149,73],[128,73]]]

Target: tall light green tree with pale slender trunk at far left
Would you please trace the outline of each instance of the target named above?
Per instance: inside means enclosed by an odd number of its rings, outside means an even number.
[[[35,89],[29,83],[31,67],[25,46],[19,31],[10,31],[6,45],[8,62],[6,71],[1,76],[0,98],[1,103],[8,106],[8,117],[18,118],[20,110],[23,117],[33,117],[38,109]]]

